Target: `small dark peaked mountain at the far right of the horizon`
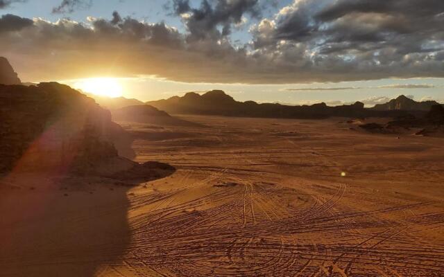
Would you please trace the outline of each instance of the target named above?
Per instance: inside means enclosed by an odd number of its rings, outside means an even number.
[[[375,111],[429,111],[434,105],[440,104],[432,100],[416,102],[415,100],[402,95],[398,96],[396,99],[386,102],[385,104],[375,105],[375,107],[371,109],[374,109]]]

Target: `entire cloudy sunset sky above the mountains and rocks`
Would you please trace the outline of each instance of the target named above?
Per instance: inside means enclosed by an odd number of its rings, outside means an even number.
[[[139,100],[444,102],[444,1],[0,0],[0,55],[23,81],[115,78]]]

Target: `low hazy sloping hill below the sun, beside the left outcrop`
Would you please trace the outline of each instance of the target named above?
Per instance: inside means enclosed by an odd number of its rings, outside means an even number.
[[[197,125],[186,120],[170,116],[166,111],[150,105],[135,105],[111,110],[112,119],[117,121],[132,121],[153,125],[192,126]]]

